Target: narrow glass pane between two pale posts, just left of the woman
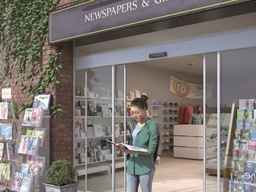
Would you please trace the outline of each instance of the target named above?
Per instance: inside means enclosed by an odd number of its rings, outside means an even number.
[[[125,105],[124,105],[124,67],[115,66],[115,141],[124,143],[125,138]],[[115,159],[115,191],[124,191],[125,184],[125,156],[120,150],[116,150]]]

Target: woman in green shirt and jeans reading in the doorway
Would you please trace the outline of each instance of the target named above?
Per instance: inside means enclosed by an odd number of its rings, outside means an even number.
[[[147,116],[148,97],[142,95],[131,102],[131,114],[135,121],[132,124],[129,144],[146,148],[148,154],[131,153],[120,148],[123,152],[130,153],[126,182],[128,192],[137,192],[140,184],[142,192],[152,191],[152,181],[155,172],[154,152],[157,148],[159,132],[156,123]]]

